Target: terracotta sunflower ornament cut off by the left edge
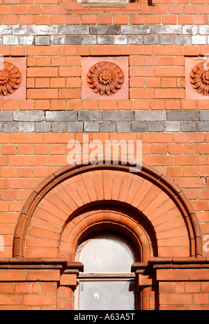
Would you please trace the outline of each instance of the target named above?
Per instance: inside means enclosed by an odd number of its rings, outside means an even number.
[[[17,66],[4,62],[3,70],[0,70],[0,96],[10,95],[19,88],[21,73]]]

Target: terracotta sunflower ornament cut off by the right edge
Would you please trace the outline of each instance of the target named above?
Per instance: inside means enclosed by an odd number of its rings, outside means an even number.
[[[201,62],[194,66],[190,73],[190,83],[192,88],[203,95],[209,94],[209,68],[208,61]]]

